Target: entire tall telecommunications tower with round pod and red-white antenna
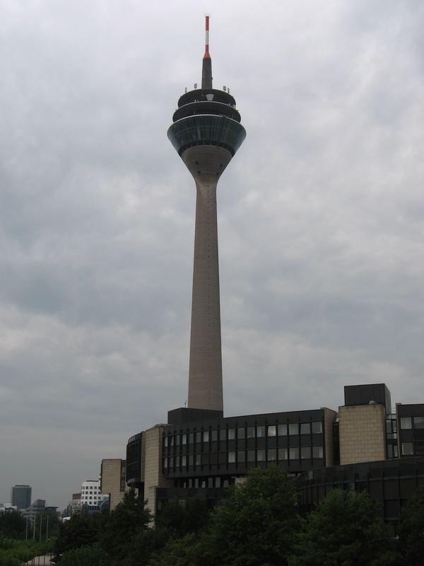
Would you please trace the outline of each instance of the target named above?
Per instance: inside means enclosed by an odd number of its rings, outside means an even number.
[[[167,136],[196,183],[188,407],[223,411],[216,187],[246,137],[235,99],[212,87],[209,16],[201,88],[184,93]]]

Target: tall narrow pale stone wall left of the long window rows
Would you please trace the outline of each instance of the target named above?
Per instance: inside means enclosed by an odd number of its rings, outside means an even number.
[[[144,499],[146,508],[154,515],[156,512],[156,488],[171,487],[172,481],[162,474],[163,425],[156,424],[143,433],[143,472]]]

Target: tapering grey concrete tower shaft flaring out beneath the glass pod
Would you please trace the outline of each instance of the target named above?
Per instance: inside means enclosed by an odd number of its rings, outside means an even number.
[[[223,410],[216,187],[231,157],[219,146],[182,155],[196,183],[189,408]]]

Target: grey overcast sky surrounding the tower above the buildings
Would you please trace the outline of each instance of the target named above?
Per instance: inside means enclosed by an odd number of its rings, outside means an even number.
[[[64,507],[187,399],[201,81],[247,130],[220,179],[225,415],[424,403],[422,0],[1,0],[0,502]]]

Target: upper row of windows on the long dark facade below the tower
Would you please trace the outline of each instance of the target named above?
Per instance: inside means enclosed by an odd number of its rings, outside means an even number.
[[[204,430],[202,432],[184,432],[175,436],[165,436],[165,446],[178,446],[179,444],[194,444],[194,441],[216,442],[244,438],[285,437],[295,434],[322,434],[322,422],[290,422],[289,424],[258,425],[257,427],[238,427],[219,430]]]

